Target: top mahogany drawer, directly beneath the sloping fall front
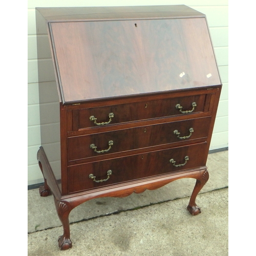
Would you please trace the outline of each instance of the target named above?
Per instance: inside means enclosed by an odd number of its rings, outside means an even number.
[[[201,94],[73,110],[73,131],[101,125],[203,112],[205,98],[206,94]]]

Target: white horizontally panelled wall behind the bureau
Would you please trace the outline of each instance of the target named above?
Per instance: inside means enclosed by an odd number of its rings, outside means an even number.
[[[36,153],[40,120],[35,7],[187,5],[206,14],[223,83],[210,150],[228,146],[228,0],[28,0],[28,185],[43,182]],[[41,60],[49,61],[49,59]]]

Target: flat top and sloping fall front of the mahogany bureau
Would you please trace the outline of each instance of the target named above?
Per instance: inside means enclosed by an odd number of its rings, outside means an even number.
[[[63,103],[221,84],[205,16],[189,7],[37,10]]]

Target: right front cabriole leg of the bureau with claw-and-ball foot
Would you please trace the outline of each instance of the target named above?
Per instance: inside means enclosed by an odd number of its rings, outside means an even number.
[[[208,179],[209,179],[209,173],[207,170],[205,170],[205,172],[202,174],[200,179],[197,179],[193,193],[190,197],[189,204],[187,206],[187,210],[190,212],[191,215],[198,215],[201,212],[200,207],[198,207],[196,204],[196,198],[199,191],[202,189],[202,187],[205,185]]]

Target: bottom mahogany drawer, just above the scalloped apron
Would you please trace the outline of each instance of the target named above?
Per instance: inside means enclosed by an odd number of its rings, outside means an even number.
[[[72,165],[68,167],[68,193],[205,166],[208,153],[206,147],[207,143],[204,142]],[[108,177],[109,170],[112,174]]]

